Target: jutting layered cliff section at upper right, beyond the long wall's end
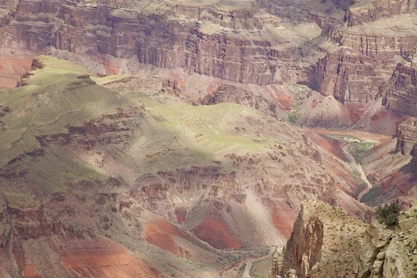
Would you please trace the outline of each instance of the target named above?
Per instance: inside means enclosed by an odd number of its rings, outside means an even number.
[[[401,16],[407,22],[401,26],[395,23],[399,19],[344,28],[329,26],[324,35],[341,49],[318,63],[316,89],[342,102],[372,102],[381,97],[377,92],[386,76],[392,74],[400,57],[407,60],[414,54],[417,42],[411,31],[416,15]]]

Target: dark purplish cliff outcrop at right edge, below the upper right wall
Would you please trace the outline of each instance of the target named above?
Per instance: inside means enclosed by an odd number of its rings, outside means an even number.
[[[417,70],[398,64],[389,82],[382,85],[381,94],[385,95],[386,108],[406,115],[417,116]]]

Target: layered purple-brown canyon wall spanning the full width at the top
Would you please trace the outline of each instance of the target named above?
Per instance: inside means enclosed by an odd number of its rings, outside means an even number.
[[[88,64],[101,74],[133,70],[126,65],[133,58],[240,83],[303,83],[343,103],[370,103],[384,97],[379,88],[398,61],[414,55],[415,6],[403,0],[204,6],[176,1],[7,1],[0,7],[0,45],[4,57],[22,51],[49,53]],[[120,59],[117,65],[113,58]],[[4,69],[19,74],[26,68],[10,58],[4,63]],[[15,82],[10,74],[7,79],[0,84]]]

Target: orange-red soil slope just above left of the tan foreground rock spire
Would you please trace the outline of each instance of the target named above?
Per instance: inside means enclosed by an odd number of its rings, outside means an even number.
[[[272,222],[275,227],[281,231],[282,236],[288,240],[291,236],[291,231],[293,231],[294,222],[297,218],[297,211],[293,211],[293,209],[284,201],[274,201],[265,198],[262,199],[262,204],[270,209]]]

